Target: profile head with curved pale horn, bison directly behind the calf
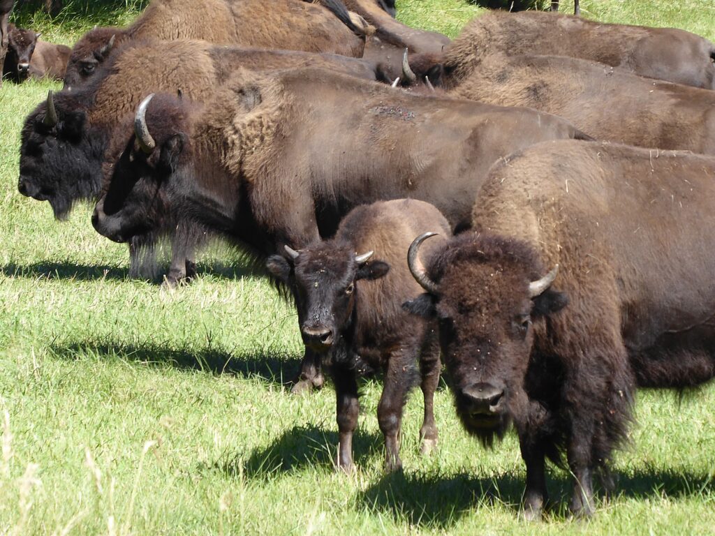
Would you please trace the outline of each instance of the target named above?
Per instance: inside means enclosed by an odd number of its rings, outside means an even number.
[[[159,97],[148,121],[153,97],[139,104],[134,134],[107,167],[109,177],[92,214],[97,232],[115,242],[127,242],[171,224],[169,199],[181,179],[179,167],[188,138],[182,132],[182,106],[175,106],[174,99],[164,102],[166,97]],[[147,122],[154,126],[151,134]]]

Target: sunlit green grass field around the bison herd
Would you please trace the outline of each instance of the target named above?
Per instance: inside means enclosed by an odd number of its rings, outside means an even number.
[[[56,21],[19,9],[71,44],[94,24],[126,24],[141,2],[66,1]],[[145,4],[145,3],[144,3]],[[566,1],[563,10],[570,10]],[[117,7],[119,6],[119,7]],[[584,0],[608,21],[679,26],[715,39],[711,0]],[[409,24],[454,36],[480,12],[463,0],[398,1]],[[285,387],[302,347],[292,309],[240,254],[215,247],[174,292],[127,278],[127,249],[99,237],[80,206],[55,222],[16,191],[19,131],[50,83],[0,89],[0,534],[715,533],[715,389],[641,392],[616,495],[593,520],[556,506],[518,520],[524,468],[513,436],[486,452],[460,429],[444,387],[440,447],[418,455],[422,404],[405,411],[400,475],[383,474],[364,387],[358,470],[335,472],[335,394]]]

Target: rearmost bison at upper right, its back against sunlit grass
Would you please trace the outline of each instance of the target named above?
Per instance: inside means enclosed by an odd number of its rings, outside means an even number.
[[[707,39],[680,29],[603,24],[541,11],[479,16],[441,56],[410,58],[413,75],[403,76],[403,83],[442,76],[445,89],[451,89],[495,53],[568,55],[639,76],[715,89],[715,44]]]

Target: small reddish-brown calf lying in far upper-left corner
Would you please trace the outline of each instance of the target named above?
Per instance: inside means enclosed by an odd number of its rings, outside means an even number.
[[[10,25],[10,45],[5,57],[3,74],[15,82],[22,82],[30,76],[45,76],[61,80],[71,49],[69,46],[39,40],[40,34],[33,30]]]

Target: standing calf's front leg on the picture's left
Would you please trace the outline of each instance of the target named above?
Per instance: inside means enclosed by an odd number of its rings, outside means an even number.
[[[358,426],[358,381],[355,371],[335,365],[333,370],[337,398],[337,467],[345,472],[352,470],[352,434]]]

